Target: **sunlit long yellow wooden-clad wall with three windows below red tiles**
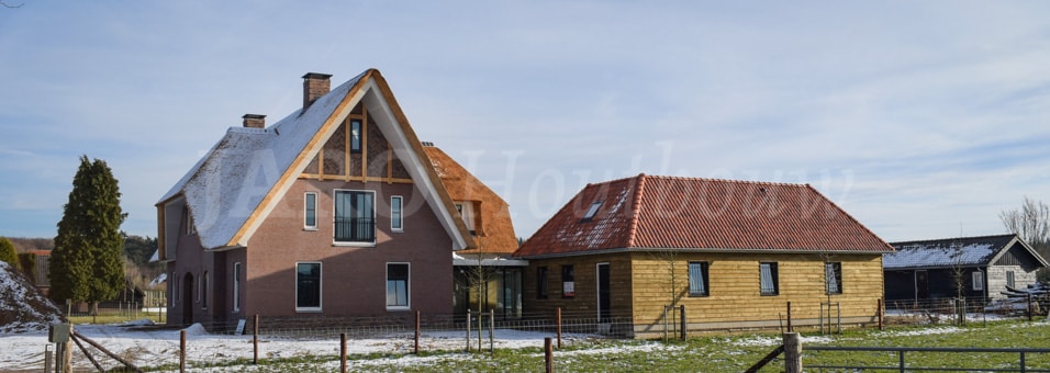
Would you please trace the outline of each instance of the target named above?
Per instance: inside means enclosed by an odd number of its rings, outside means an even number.
[[[668,260],[673,260],[674,283]],[[684,305],[690,323],[746,323],[786,318],[816,318],[820,303],[828,302],[824,287],[824,260],[818,255],[755,253],[632,253],[634,319],[636,325],[662,323],[663,306]],[[706,261],[708,296],[689,296],[688,263]],[[759,263],[778,263],[779,295],[759,293]],[[842,263],[842,294],[830,296],[839,303],[842,317],[873,317],[882,296],[882,257],[838,255],[829,261]]]

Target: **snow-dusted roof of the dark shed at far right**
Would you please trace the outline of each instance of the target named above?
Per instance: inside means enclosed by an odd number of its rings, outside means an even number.
[[[994,263],[1010,248],[1031,256],[1034,262],[1047,267],[1047,261],[1036,250],[1014,234],[957,237],[890,244],[896,252],[882,258],[884,269],[921,269],[952,267],[986,267]]]

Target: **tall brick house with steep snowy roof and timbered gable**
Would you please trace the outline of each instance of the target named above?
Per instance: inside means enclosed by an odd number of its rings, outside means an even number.
[[[370,69],[266,126],[248,114],[157,203],[172,323],[451,314],[473,237]]]

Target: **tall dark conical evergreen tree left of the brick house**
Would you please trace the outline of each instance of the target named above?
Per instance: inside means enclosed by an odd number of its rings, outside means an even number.
[[[120,196],[109,166],[81,156],[49,260],[52,298],[88,302],[94,315],[100,301],[120,294],[124,287],[120,226],[127,216]]]

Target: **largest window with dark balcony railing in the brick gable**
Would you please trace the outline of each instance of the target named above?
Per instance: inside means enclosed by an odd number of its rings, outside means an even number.
[[[335,241],[375,242],[375,192],[335,191]]]

